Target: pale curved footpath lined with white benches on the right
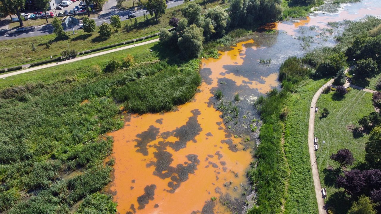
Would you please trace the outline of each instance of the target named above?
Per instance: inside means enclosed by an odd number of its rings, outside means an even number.
[[[320,97],[320,94],[322,94],[323,88],[325,88],[328,85],[331,85],[332,83],[333,83],[333,79],[325,83],[325,85],[320,87],[319,90],[315,93],[314,97],[312,98],[309,124],[308,124],[308,150],[310,154],[310,162],[312,166],[311,167],[312,178],[314,179],[314,187],[315,187],[315,194],[316,194],[319,214],[326,214],[326,212],[324,209],[324,200],[322,195],[322,187],[320,185],[319,171],[317,170],[317,163],[315,163],[316,155],[315,155],[315,148],[314,148],[314,129],[315,129],[315,114],[317,114],[315,113],[315,106]]]

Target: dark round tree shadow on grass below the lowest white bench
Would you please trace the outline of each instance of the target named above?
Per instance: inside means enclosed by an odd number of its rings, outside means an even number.
[[[344,191],[333,193],[325,203],[325,209],[331,209],[335,214],[346,214],[352,206],[352,199]]]

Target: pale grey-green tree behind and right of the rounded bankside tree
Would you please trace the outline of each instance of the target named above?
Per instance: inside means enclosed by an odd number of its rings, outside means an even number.
[[[211,24],[215,30],[216,37],[221,38],[225,35],[225,29],[227,25],[227,19],[229,16],[220,6],[210,8],[205,14],[205,18],[211,19]]]

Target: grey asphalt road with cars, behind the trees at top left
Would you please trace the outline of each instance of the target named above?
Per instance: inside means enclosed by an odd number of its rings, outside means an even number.
[[[119,15],[122,21],[127,20],[127,15],[135,14],[136,17],[143,16],[143,12],[146,10],[116,10],[113,5],[114,0],[109,0],[110,4],[107,4],[105,13],[99,15],[96,18],[93,18],[96,22],[96,25],[99,26],[103,22],[110,23],[110,16]],[[167,2],[167,8],[178,6],[183,4],[183,0],[171,0]],[[105,7],[104,7],[105,8]],[[24,32],[15,32],[15,30],[3,30],[0,32],[0,40],[14,39],[14,38],[25,38],[25,37],[35,37],[46,34],[53,34],[53,26],[51,24],[35,27],[26,27],[27,29]],[[79,27],[75,26],[74,30],[78,30]],[[72,29],[65,29],[68,32],[71,32]]]

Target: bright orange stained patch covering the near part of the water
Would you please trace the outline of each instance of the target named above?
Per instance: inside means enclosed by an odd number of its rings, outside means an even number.
[[[108,188],[114,193],[118,212],[191,213],[202,211],[208,202],[215,213],[231,213],[219,199],[226,194],[241,197],[241,185],[247,184],[245,174],[253,159],[250,149],[244,149],[243,139],[228,133],[221,112],[209,99],[219,78],[229,78],[237,85],[250,81],[224,69],[225,65],[242,65],[249,48],[256,48],[253,40],[219,51],[218,59],[203,59],[200,66],[211,70],[211,82],[203,81],[191,102],[171,112],[130,115],[122,129],[109,134],[114,138],[115,166]],[[264,83],[251,81],[250,88],[265,93],[277,86],[276,78],[276,73],[261,77]],[[169,185],[173,180],[177,188]],[[144,203],[142,195],[149,195],[143,197]],[[213,196],[217,200],[211,202]]]

